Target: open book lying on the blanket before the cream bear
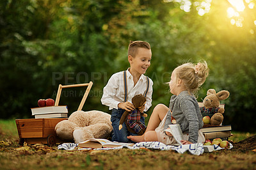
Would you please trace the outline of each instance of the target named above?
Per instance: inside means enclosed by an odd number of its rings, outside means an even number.
[[[114,148],[118,146],[133,146],[134,143],[111,142],[108,139],[89,139],[78,144],[81,148]]]

